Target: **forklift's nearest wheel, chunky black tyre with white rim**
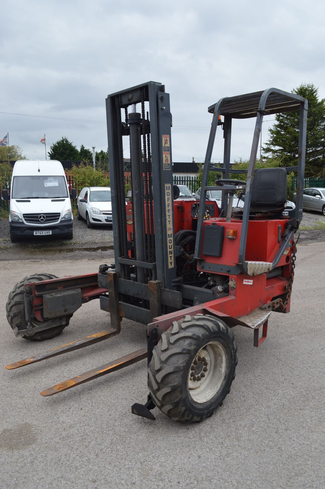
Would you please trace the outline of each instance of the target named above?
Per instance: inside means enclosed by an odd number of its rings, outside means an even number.
[[[236,340],[223,321],[185,316],[153,349],[148,368],[152,400],[172,420],[201,422],[229,394],[236,365]]]

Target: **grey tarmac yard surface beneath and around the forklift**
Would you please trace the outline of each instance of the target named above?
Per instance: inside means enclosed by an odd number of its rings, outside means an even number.
[[[101,260],[5,260],[0,280],[0,487],[61,488],[324,488],[325,243],[298,244],[290,314],[273,312],[268,337],[234,328],[236,379],[214,416],[200,424],[131,415],[147,398],[146,360],[43,398],[67,378],[145,347],[144,326],[122,321],[119,336],[84,350],[7,371],[6,364],[109,326],[98,301],[79,309],[61,336],[15,338],[5,316],[14,284],[34,272],[95,272]]]

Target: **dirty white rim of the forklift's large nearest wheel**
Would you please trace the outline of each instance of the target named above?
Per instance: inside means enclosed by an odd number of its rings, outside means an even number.
[[[217,341],[207,343],[195,356],[188,375],[191,398],[203,404],[213,399],[220,389],[227,369],[227,354]]]

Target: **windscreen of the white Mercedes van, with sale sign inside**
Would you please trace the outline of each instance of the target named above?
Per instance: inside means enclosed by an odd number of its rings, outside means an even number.
[[[68,197],[65,177],[53,175],[14,177],[13,199],[54,199],[56,197]]]

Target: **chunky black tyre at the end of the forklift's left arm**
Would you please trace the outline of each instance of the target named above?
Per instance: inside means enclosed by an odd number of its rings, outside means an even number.
[[[23,286],[24,284],[28,284],[29,282],[41,282],[42,280],[51,280],[53,278],[58,278],[56,275],[52,275],[51,273],[35,273],[29,277],[23,278],[20,282],[18,282],[12,291],[9,294],[8,301],[6,304],[6,313],[7,320],[10,324],[11,328],[14,330],[18,328],[18,330],[24,330],[27,327],[25,321],[25,306],[24,306],[24,295],[23,295]],[[65,316],[65,324],[60,326],[54,326],[53,328],[48,328],[44,331],[38,331],[37,333],[31,336],[22,336],[22,338],[29,339],[32,341],[43,341],[44,339],[51,339],[55,336],[58,336],[63,332],[63,330],[68,326],[70,318],[72,314]],[[44,319],[43,323],[38,321],[37,319],[33,319],[32,325],[41,326],[47,321],[51,321],[51,319]]]

